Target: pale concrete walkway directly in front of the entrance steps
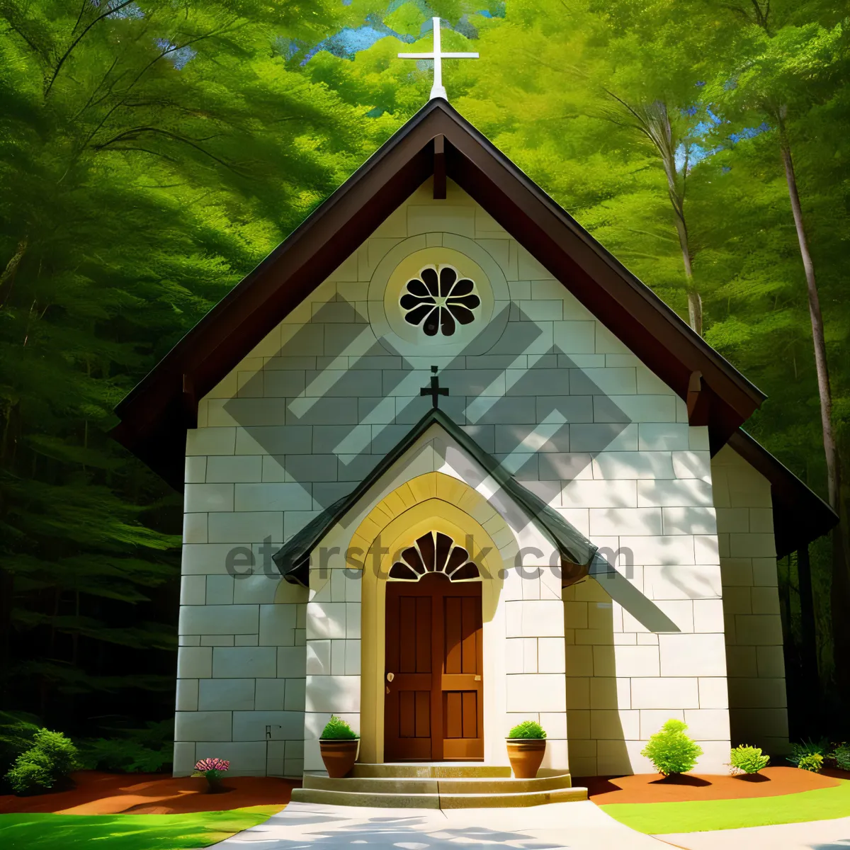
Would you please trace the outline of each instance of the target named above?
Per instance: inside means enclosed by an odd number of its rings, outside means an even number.
[[[291,802],[217,850],[664,850],[590,801],[529,808],[354,808]]]

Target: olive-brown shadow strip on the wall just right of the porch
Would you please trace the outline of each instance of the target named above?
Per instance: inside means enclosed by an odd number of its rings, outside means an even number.
[[[614,604],[604,584],[588,576],[564,588],[567,740],[573,776],[632,773],[620,717],[614,657]],[[618,608],[618,612],[621,609]],[[621,687],[629,687],[622,679]]]

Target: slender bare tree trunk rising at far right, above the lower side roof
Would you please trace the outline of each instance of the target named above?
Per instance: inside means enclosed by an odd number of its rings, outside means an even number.
[[[797,241],[800,243],[800,256],[806,271],[808,291],[808,314],[812,320],[812,341],[814,343],[814,365],[818,372],[818,393],[820,395],[820,425],[824,433],[824,453],[826,456],[826,480],[832,509],[838,510],[838,492],[841,488],[841,473],[838,464],[836,438],[832,431],[832,390],[830,388],[830,370],[826,362],[826,342],[824,338],[824,317],[820,312],[818,283],[814,275],[812,254],[808,250],[806,225],[802,220],[800,195],[796,186],[794,161],[791,158],[791,144],[785,133],[782,119],[779,119],[779,149],[782,151],[782,164],[785,166],[785,180],[788,183],[788,195],[791,198],[791,212],[794,213]]]

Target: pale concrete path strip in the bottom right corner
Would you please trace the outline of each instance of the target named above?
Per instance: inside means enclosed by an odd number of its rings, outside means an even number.
[[[680,832],[658,837],[684,850],[729,850],[730,847],[746,847],[747,850],[847,850],[850,848],[850,818],[748,826],[740,830]]]

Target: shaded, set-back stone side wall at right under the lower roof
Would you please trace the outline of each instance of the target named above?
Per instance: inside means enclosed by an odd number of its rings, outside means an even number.
[[[788,748],[785,656],[770,482],[729,446],[711,461],[734,745]]]

